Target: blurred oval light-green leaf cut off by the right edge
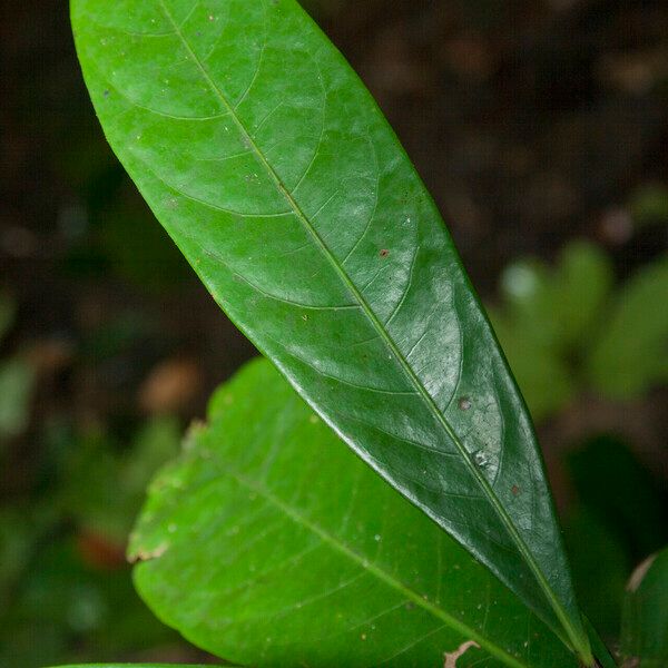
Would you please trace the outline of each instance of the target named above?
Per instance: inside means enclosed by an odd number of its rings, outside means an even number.
[[[633,399],[668,380],[668,256],[644,267],[620,291],[588,360],[593,386]]]

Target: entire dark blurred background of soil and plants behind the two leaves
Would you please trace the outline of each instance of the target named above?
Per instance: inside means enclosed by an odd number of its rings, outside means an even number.
[[[310,0],[434,195],[528,404],[584,609],[668,543],[668,6]],[[114,159],[67,7],[0,7],[0,667],[202,660],[134,593],[153,472],[252,346]]]

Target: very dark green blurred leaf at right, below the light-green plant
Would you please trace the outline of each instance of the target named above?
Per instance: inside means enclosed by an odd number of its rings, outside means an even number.
[[[577,502],[564,518],[582,607],[606,638],[619,638],[633,564],[668,543],[668,498],[619,438],[597,435],[569,453]]]

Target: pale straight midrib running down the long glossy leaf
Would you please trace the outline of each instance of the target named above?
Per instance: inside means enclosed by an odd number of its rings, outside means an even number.
[[[197,53],[195,53],[195,51],[190,47],[190,43],[188,42],[185,35],[183,33],[181,27],[174,20],[171,12],[165,4],[165,1],[158,0],[158,3],[160,6],[166,19],[171,24],[175,35],[178,37],[179,41],[181,42],[184,49],[186,49],[186,51],[193,58],[193,61],[196,65],[197,69],[202,72],[202,76],[204,77],[206,84],[212,89],[212,91],[218,97],[219,101],[223,104],[223,106],[229,112],[230,118],[233,119],[234,124],[237,126],[245,143],[247,143],[248,147],[255,153],[257,159],[262,163],[262,165],[266,169],[268,176],[275,183],[278,190],[284,195],[286,202],[289,204],[291,208],[294,210],[296,217],[299,219],[299,222],[302,223],[302,225],[304,226],[306,232],[312,236],[313,240],[321,248],[323,255],[327,258],[330,264],[333,266],[334,271],[340,276],[340,278],[342,279],[343,284],[346,286],[346,288],[348,289],[351,295],[360,304],[360,308],[362,310],[364,315],[370,320],[370,322],[372,323],[374,328],[377,331],[380,337],[383,340],[385,345],[390,348],[393,356],[399,362],[400,366],[402,367],[402,370],[404,371],[404,373],[406,374],[409,380],[413,383],[415,390],[419,392],[422,400],[426,403],[428,407],[433,413],[436,421],[441,424],[441,426],[444,429],[445,433],[453,441],[455,448],[460,451],[460,454],[462,455],[466,468],[472,473],[473,478],[478,481],[478,483],[482,488],[483,492],[485,493],[490,504],[492,505],[492,508],[494,509],[494,511],[501,519],[501,522],[503,523],[509,536],[515,543],[520,554],[522,556],[522,558],[529,566],[529,568],[530,568],[531,572],[533,573],[534,578],[537,579],[540,588],[543,590],[546,598],[548,599],[550,606],[552,607],[552,610],[557,615],[557,618],[559,619],[559,621],[561,622],[562,627],[564,628],[567,635],[569,636],[569,639],[573,642],[574,647],[580,647],[581,639],[580,639],[579,635],[576,632],[572,625],[570,623],[568,616],[566,615],[564,610],[562,609],[562,607],[559,602],[558,597],[552,591],[552,589],[551,589],[549,582],[547,581],[546,577],[543,576],[541,569],[539,568],[538,563],[536,563],[536,560],[533,559],[533,556],[531,554],[529,548],[524,543],[521,536],[518,533],[518,531],[514,527],[514,523],[512,522],[512,519],[505,512],[505,509],[500,503],[499,499],[494,494],[489,482],[481,474],[478,466],[475,465],[475,463],[472,461],[471,456],[469,455],[469,452],[464,448],[463,443],[461,442],[461,440],[459,439],[459,436],[456,435],[456,433],[454,432],[454,430],[452,429],[450,423],[446,421],[445,416],[443,415],[443,413],[441,412],[441,410],[439,409],[439,406],[436,405],[436,403],[434,402],[432,396],[429,394],[429,392],[424,387],[423,383],[416,376],[415,372],[409,364],[407,360],[405,360],[404,356],[401,354],[401,351],[396,347],[396,344],[391,338],[390,334],[386,332],[386,330],[384,328],[382,323],[379,321],[379,318],[376,317],[375,313],[373,312],[373,310],[371,308],[371,306],[369,305],[369,303],[366,302],[366,299],[364,298],[362,293],[357,289],[355,284],[351,281],[348,275],[345,273],[344,268],[338,263],[337,258],[332,254],[332,252],[330,250],[327,245],[324,243],[324,240],[322,239],[322,237],[320,236],[317,230],[310,223],[307,216],[304,214],[304,212],[302,210],[298,203],[294,199],[294,197],[292,196],[292,194],[289,193],[289,190],[287,189],[285,184],[283,183],[283,180],[281,179],[278,174],[274,170],[272,165],[268,163],[268,160],[264,156],[263,151],[255,143],[253,136],[246,129],[242,119],[238,117],[238,115],[236,112],[236,108],[228,101],[225,94],[220,90],[220,88],[215,82],[213,77],[209,75],[208,70],[206,69],[206,67],[204,66],[204,63],[202,62],[202,60],[199,59]],[[263,1],[263,4],[264,4],[264,1]],[[419,504],[419,505],[420,505],[421,510],[423,510],[426,514],[429,514],[434,521],[436,521],[436,523],[440,523],[439,518],[435,515],[435,513],[433,513],[429,508],[423,507],[422,504]]]

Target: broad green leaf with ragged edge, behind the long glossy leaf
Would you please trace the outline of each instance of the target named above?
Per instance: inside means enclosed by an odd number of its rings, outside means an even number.
[[[459,668],[577,665],[265,360],[156,478],[129,556],[160,619],[245,665],[442,666],[471,640]]]

